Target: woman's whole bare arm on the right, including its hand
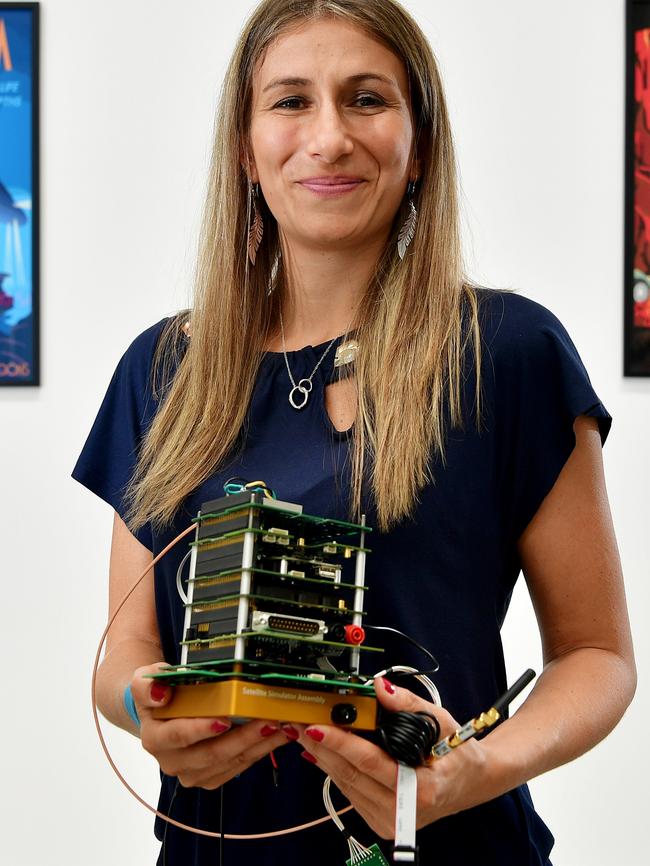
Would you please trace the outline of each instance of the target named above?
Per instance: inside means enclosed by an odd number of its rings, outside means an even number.
[[[636,672],[616,540],[594,419],[574,425],[576,446],[522,534],[519,553],[545,667],[520,710],[481,741],[418,769],[418,826],[491,800],[570,761],[605,737],[634,694]],[[457,723],[407,689],[377,684],[391,710],[434,712],[443,736]],[[465,721],[465,720],[463,720]],[[329,726],[300,742],[384,838],[395,816],[395,762]]]

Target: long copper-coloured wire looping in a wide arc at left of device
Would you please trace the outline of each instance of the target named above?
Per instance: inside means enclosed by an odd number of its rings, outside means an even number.
[[[270,839],[273,836],[288,836],[290,833],[297,833],[299,830],[307,830],[310,827],[316,827],[318,824],[324,824],[330,820],[329,815],[325,815],[322,818],[316,818],[313,821],[308,821],[306,824],[299,824],[296,827],[288,827],[285,830],[273,830],[270,833],[247,833],[247,834],[236,834],[236,833],[215,833],[212,830],[202,830],[200,827],[192,827],[190,824],[183,824],[181,821],[176,821],[174,818],[171,818],[169,815],[165,815],[163,812],[160,812],[156,809],[155,806],[152,806],[151,803],[148,803],[143,797],[138,794],[138,792],[131,787],[131,785],[124,778],[122,773],[119,771],[119,768],[115,761],[113,760],[113,756],[111,755],[108,745],[106,744],[106,740],[104,739],[104,732],[102,731],[102,726],[99,721],[99,713],[97,711],[97,670],[99,668],[99,661],[102,655],[102,650],[104,648],[104,643],[106,641],[106,636],[110,631],[111,626],[115,622],[119,612],[122,610],[127,601],[131,598],[133,593],[136,591],[138,586],[142,583],[145,577],[149,574],[149,572],[160,562],[160,560],[165,556],[175,544],[178,544],[183,538],[190,534],[190,532],[195,531],[196,526],[194,523],[190,524],[190,526],[186,527],[182,532],[180,532],[173,541],[170,541],[167,547],[164,547],[160,553],[155,556],[149,565],[142,571],[142,573],[138,576],[135,583],[125,593],[124,597],[117,605],[115,610],[113,611],[112,616],[109,617],[109,620],[102,632],[102,636],[99,639],[99,646],[97,647],[97,652],[95,653],[95,661],[93,662],[93,672],[92,679],[90,683],[90,696],[92,702],[92,714],[93,720],[95,722],[95,729],[97,730],[97,736],[99,737],[99,742],[101,744],[102,750],[106,755],[106,760],[111,766],[111,769],[120,780],[120,782],[124,785],[124,787],[132,794],[133,797],[140,803],[145,809],[148,809],[154,815],[157,815],[158,818],[166,821],[168,824],[172,824],[174,827],[178,827],[181,830],[188,830],[190,833],[196,833],[198,836],[209,836],[211,838],[221,838],[223,836],[224,839]],[[345,812],[349,812],[352,809],[352,806],[346,806],[344,809],[339,810],[338,814],[342,815]]]

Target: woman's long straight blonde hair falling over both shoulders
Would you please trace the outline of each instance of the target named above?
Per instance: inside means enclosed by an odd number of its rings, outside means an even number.
[[[281,34],[335,16],[388,46],[408,73],[421,163],[415,239],[402,261],[397,233],[377,263],[356,322],[357,415],[351,436],[350,516],[374,497],[379,528],[413,513],[444,460],[444,409],[462,426],[461,384],[468,346],[480,405],[480,335],[474,287],[463,273],[456,164],[449,116],[426,37],[394,0],[263,0],[245,25],[226,72],[216,118],[196,270],[191,339],[181,352],[173,319],[159,344],[157,381],[167,381],[129,487],[129,525],[167,524],[185,497],[232,459],[264,346],[275,333],[284,290],[277,223],[260,196],[264,237],[247,265],[250,223],[246,152],[253,73]],[[278,267],[279,263],[279,267]],[[275,264],[275,269],[274,269]],[[267,290],[274,270],[278,290]],[[174,370],[173,377],[167,372]],[[406,398],[405,398],[406,395]]]

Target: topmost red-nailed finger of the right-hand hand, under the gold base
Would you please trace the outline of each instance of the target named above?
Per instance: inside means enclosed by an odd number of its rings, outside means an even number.
[[[348,786],[364,785],[370,794],[372,781],[385,789],[394,790],[397,764],[383,749],[357,737],[350,731],[330,725],[310,726],[299,737],[301,745],[329,772],[343,778]]]

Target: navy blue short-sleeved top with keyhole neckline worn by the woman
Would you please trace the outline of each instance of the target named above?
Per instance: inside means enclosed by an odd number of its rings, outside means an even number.
[[[508,292],[479,290],[478,295],[483,430],[477,433],[474,424],[475,372],[468,363],[464,430],[449,433],[446,465],[434,461],[435,483],[423,490],[413,519],[369,536],[372,553],[366,567],[367,621],[399,628],[434,653],[443,703],[461,722],[490,707],[506,688],[499,632],[520,571],[516,541],[574,447],[574,419],[596,417],[603,442],[611,424],[575,346],[552,313]],[[137,337],[118,364],[73,472],[120,515],[139,443],[156,411],[151,362],[164,324]],[[296,381],[311,374],[325,347],[288,353]],[[282,354],[264,355],[242,453],[188,497],[172,526],[163,532],[145,526],[135,533],[138,539],[158,553],[202,502],[223,495],[223,483],[232,475],[263,479],[279,498],[302,503],[309,514],[345,519],[349,436],[335,430],[324,400],[325,386],[334,379],[333,348],[314,376],[307,406],[297,411],[289,405],[291,386]],[[367,521],[376,526],[372,503]],[[158,625],[171,663],[179,661],[182,638],[175,576],[185,550],[178,545],[155,571]],[[381,667],[426,664],[403,641],[384,645]],[[522,670],[526,666],[522,660]],[[267,759],[224,786],[225,832],[265,832],[324,814],[322,771],[302,760],[299,751],[294,743],[277,751],[278,787]],[[174,788],[175,780],[164,777],[163,812],[170,808]],[[219,792],[179,786],[171,810],[178,820],[218,830]],[[377,841],[356,813],[346,814],[344,822],[363,844]],[[159,838],[164,828],[158,822]],[[426,866],[547,866],[552,842],[525,786],[418,833],[420,862]],[[388,857],[389,844],[381,844]],[[165,846],[168,866],[219,862],[216,840],[171,826]],[[343,837],[329,822],[287,837],[224,844],[227,866],[342,866],[348,856]]]

